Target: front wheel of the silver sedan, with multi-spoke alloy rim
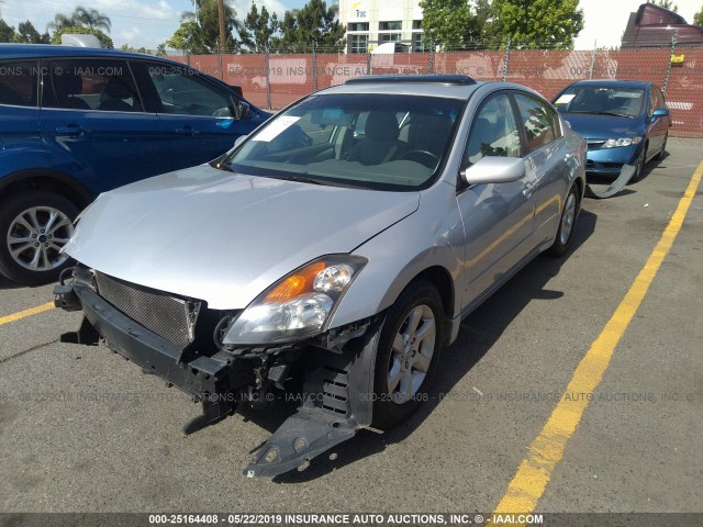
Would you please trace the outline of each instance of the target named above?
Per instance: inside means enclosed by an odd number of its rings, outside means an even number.
[[[381,325],[373,375],[373,426],[391,428],[427,400],[444,343],[444,309],[435,287],[411,283]]]

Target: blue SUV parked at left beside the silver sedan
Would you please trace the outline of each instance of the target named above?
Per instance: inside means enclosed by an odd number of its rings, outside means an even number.
[[[172,60],[0,44],[0,273],[55,280],[98,194],[215,159],[269,116]]]

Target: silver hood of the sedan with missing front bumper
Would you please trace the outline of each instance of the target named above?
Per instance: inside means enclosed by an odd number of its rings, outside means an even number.
[[[383,192],[223,172],[209,165],[101,194],[64,250],[112,277],[242,309],[290,271],[350,253],[417,210]]]

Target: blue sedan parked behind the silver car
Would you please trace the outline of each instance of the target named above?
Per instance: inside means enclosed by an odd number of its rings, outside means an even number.
[[[671,117],[651,82],[581,80],[553,103],[588,143],[588,175],[617,177],[623,165],[633,165],[631,181],[637,181],[648,160],[666,156]]]

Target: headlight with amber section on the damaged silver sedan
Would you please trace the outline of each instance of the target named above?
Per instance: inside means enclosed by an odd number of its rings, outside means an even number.
[[[264,291],[224,336],[224,344],[301,340],[322,330],[367,259],[321,257]]]

